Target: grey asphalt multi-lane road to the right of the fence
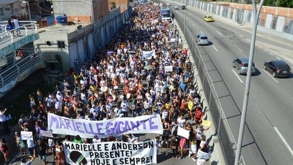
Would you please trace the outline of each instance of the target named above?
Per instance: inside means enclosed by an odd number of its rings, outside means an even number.
[[[169,1],[172,2],[173,1]],[[176,3],[175,5],[181,6]],[[203,21],[200,9],[188,7],[186,23],[193,34],[205,33],[209,38],[208,46],[199,46],[208,56],[204,57],[209,74],[223,106],[233,136],[237,142],[241,119],[246,76],[236,74],[232,67],[235,58],[249,57],[251,32],[221,20]],[[184,10],[175,10],[184,20]],[[283,41],[286,42],[286,41]],[[293,155],[287,149],[274,127],[293,147],[293,75],[290,78],[272,78],[263,70],[264,62],[289,59],[293,46],[272,41],[266,36],[257,36],[253,62],[257,72],[251,77],[251,88],[241,155],[246,165],[291,165]],[[279,49],[278,53],[274,50]],[[212,62],[210,62],[210,60]],[[218,74],[218,73],[219,74]]]

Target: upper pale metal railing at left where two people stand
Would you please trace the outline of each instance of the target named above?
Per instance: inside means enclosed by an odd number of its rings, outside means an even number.
[[[18,39],[17,30],[20,30],[21,36],[37,33],[39,25],[36,23],[37,21],[19,21],[20,27],[9,30],[8,22],[0,21],[0,45],[9,45],[13,43],[14,40]],[[12,32],[15,34],[13,35]]]

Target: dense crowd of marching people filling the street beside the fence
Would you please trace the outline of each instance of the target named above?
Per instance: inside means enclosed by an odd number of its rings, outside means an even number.
[[[47,113],[90,121],[160,114],[164,131],[163,135],[156,137],[158,153],[160,149],[162,152],[163,144],[167,145],[167,149],[170,147],[173,158],[179,157],[178,159],[188,155],[196,161],[198,150],[208,152],[203,132],[209,127],[204,129],[201,125],[203,104],[193,85],[188,49],[182,47],[177,27],[171,27],[172,21],[161,21],[160,7],[137,5],[132,17],[119,29],[111,43],[98,49],[93,59],[70,70],[73,84],[66,79],[62,84],[56,84],[52,93],[43,95],[42,89],[37,89],[36,98],[29,96],[31,113],[27,116],[21,114],[19,126],[22,131],[32,131],[35,139],[24,144],[20,133],[15,132],[21,155],[27,154],[25,147],[32,155],[21,160],[23,165],[36,156],[45,165],[49,150],[53,153],[56,165],[65,164],[62,142],[42,137],[40,133],[41,130],[46,130]],[[172,38],[178,46],[174,46]],[[148,59],[143,57],[143,51],[152,50],[155,51],[155,56]],[[172,69],[166,71],[167,66]],[[194,122],[196,128],[193,129],[187,120]],[[179,127],[189,130],[188,139],[177,135]],[[141,142],[140,137],[133,134],[105,139],[97,135],[93,139],[66,135],[64,141]],[[0,149],[4,148],[1,151],[7,153],[8,160],[9,146],[4,139],[0,142]],[[189,154],[186,153],[187,150]],[[206,160],[197,160],[198,165],[205,163]]]

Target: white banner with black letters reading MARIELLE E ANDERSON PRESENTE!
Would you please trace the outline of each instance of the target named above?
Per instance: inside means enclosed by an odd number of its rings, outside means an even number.
[[[157,163],[155,144],[155,140],[134,144],[63,142],[63,148],[66,162],[70,165],[150,165]]]

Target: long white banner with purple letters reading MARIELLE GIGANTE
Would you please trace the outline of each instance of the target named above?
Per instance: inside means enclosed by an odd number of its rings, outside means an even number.
[[[160,115],[146,115],[135,118],[115,118],[105,121],[69,119],[48,113],[48,130],[54,134],[80,135],[82,138],[118,137],[125,133],[163,134]]]

